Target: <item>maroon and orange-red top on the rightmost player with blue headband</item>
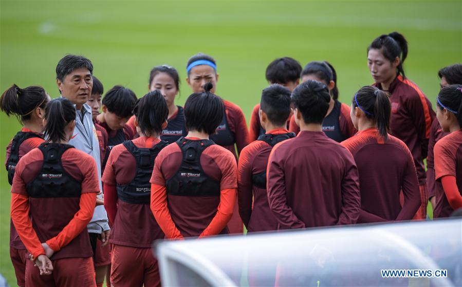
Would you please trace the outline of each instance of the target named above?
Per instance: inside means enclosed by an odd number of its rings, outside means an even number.
[[[444,176],[454,176],[462,195],[462,130],[451,132],[435,144],[436,206],[433,217],[448,217],[454,211],[441,184]]]

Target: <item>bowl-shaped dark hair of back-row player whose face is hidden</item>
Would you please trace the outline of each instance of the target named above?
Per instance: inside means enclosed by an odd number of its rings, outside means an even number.
[[[290,57],[278,58],[266,68],[266,80],[271,84],[287,84],[300,79],[302,66]]]

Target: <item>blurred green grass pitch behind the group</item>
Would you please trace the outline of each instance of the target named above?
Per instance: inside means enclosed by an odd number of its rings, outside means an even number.
[[[250,119],[267,85],[265,69],[280,56],[305,65],[328,60],[337,69],[340,100],[373,82],[366,65],[372,40],[392,31],[409,41],[406,75],[434,103],[437,70],[460,63],[460,1],[324,2],[22,2],[1,1],[0,89],[42,85],[58,95],[54,69],[66,53],[82,54],[105,90],[121,84],[138,97],[155,65],[181,75],[183,104],[186,61],[197,53],[215,57],[217,94],[241,106]],[[0,149],[20,129],[0,119]],[[0,152],[4,162],[5,153]],[[0,273],[15,285],[8,253],[9,185],[0,168]]]

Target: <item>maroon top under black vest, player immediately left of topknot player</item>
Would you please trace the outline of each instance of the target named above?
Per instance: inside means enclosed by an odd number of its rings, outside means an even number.
[[[141,148],[151,148],[160,140],[146,146],[146,137],[132,142]],[[136,176],[136,161],[123,144],[116,145],[110,152],[101,180],[116,186],[131,183]],[[110,242],[117,245],[149,248],[156,239],[164,235],[151,212],[150,204],[131,204],[117,200],[117,214],[112,228]]]

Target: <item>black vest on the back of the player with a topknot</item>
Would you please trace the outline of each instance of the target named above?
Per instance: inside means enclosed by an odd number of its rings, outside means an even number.
[[[220,182],[211,179],[200,165],[200,156],[211,140],[187,140],[181,137],[176,144],[183,159],[175,175],[165,182],[167,194],[175,196],[219,197]]]

